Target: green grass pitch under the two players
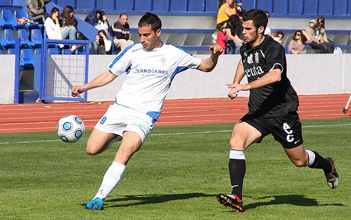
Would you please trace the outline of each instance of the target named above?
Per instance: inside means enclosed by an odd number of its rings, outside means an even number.
[[[216,200],[230,191],[233,125],[156,126],[102,211],[84,206],[119,143],[88,156],[91,130],[72,144],[55,132],[0,134],[0,219],[350,219],[351,118],[302,121],[305,149],[334,158],[336,189],[321,170],[295,167],[272,136],[250,146],[244,213]]]

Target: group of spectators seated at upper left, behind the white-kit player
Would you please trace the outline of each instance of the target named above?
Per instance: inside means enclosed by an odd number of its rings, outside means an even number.
[[[50,14],[45,11],[45,4],[50,0],[27,0],[27,10],[29,18],[39,24],[44,24],[45,32],[49,39],[62,40],[88,40],[81,31],[77,30],[77,19],[73,16],[73,7],[66,5],[61,14],[57,7],[53,7]],[[90,54],[111,54],[112,43],[116,48],[123,50],[134,44],[129,40],[128,15],[123,13],[119,19],[112,25],[109,24],[105,12],[99,8],[92,9],[86,18],[87,23],[94,26],[96,31],[96,40],[90,42]],[[107,36],[113,37],[113,42],[108,40]],[[64,45],[59,45],[63,48]],[[73,52],[77,45],[70,46]]]

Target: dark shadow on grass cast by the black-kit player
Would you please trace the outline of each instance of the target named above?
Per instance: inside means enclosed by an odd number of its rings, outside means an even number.
[[[244,205],[244,210],[253,209],[263,205],[274,205],[274,204],[292,204],[298,206],[344,206],[344,204],[318,204],[316,199],[305,198],[303,195],[277,195],[277,196],[266,196],[257,199],[268,199],[273,198],[269,202],[259,202]]]

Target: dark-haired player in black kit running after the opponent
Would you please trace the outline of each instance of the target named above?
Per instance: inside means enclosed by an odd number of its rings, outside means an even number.
[[[248,113],[234,126],[230,138],[229,175],[231,194],[218,194],[220,204],[243,211],[243,180],[246,172],[245,150],[268,134],[281,143],[285,153],[297,167],[322,169],[331,189],[337,187],[338,173],[333,159],[304,150],[302,128],[298,117],[298,95],[286,76],[285,51],[268,35],[264,35],[267,16],[259,9],[243,17],[246,41],[240,48],[239,62],[228,97],[234,99],[240,90],[250,91]],[[248,83],[240,84],[246,75]]]

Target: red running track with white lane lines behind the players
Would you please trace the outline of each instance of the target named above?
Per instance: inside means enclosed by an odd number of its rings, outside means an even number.
[[[300,119],[350,117],[343,113],[349,94],[299,95]],[[247,112],[247,97],[165,100],[155,126],[234,123]],[[113,102],[0,105],[0,133],[56,130],[64,115],[79,116],[92,129]]]

